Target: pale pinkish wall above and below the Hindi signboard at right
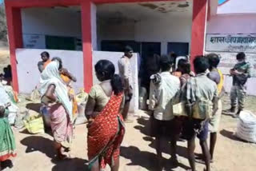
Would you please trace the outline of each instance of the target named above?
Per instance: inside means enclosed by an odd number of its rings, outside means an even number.
[[[233,1],[233,0],[232,0]],[[230,1],[230,2],[232,2]],[[226,2],[228,4],[229,2]],[[225,6],[225,5],[223,5]],[[256,34],[256,14],[225,14],[210,18],[207,23],[206,34]],[[206,42],[207,43],[207,42]],[[211,52],[207,52],[211,53]],[[221,55],[220,70],[226,74],[225,89],[230,92],[232,78],[228,76],[229,70],[236,63],[236,54],[231,52],[215,52]],[[246,54],[247,61],[253,66],[253,77],[246,84],[246,91],[250,95],[256,95],[256,54]],[[224,65],[223,65],[224,64]],[[229,65],[226,65],[229,64]]]

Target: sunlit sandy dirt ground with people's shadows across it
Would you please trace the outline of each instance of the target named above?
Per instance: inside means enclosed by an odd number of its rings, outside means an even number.
[[[2,51],[0,50],[0,53]],[[3,57],[5,56],[5,57]],[[0,66],[8,62],[8,55],[2,55]],[[1,68],[2,70],[2,68]],[[1,71],[0,71],[1,72]],[[24,96],[19,106],[26,106]],[[229,107],[228,96],[223,99],[224,109]],[[31,105],[31,104],[29,104]],[[36,105],[36,104],[32,104]],[[246,109],[256,113],[256,97],[246,99]],[[142,113],[142,111],[140,111]],[[238,140],[234,136],[238,119],[222,115],[222,121],[218,133],[218,142],[215,152],[213,171],[255,171],[256,170],[256,145]],[[148,118],[137,118],[134,123],[126,125],[126,136],[121,148],[121,171],[154,170],[156,161],[154,139],[149,136],[150,122]],[[26,131],[19,132],[14,129],[18,156],[13,159],[14,168],[5,170],[14,171],[85,171],[87,169],[86,157],[86,125],[79,125],[74,130],[75,138],[70,161],[57,161],[53,147],[53,137],[50,133],[31,135]],[[164,157],[166,170],[182,171],[189,169],[186,159],[186,142],[178,142],[178,168],[172,168],[169,146],[166,143]],[[197,142],[195,153],[201,153]],[[197,164],[198,171],[202,171],[204,165]],[[110,169],[106,169],[110,170]]]

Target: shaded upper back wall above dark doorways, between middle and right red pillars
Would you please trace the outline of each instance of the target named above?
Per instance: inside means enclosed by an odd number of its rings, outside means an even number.
[[[162,18],[144,20],[135,26],[138,42],[161,42],[162,54],[167,53],[168,42],[191,42],[192,18]]]

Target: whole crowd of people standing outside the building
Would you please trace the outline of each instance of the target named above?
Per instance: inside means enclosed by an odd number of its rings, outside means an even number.
[[[120,146],[125,135],[125,123],[133,121],[129,116],[130,101],[133,97],[134,84],[130,59],[133,50],[126,46],[124,55],[118,61],[119,74],[115,74],[114,64],[100,60],[94,66],[100,82],[90,89],[86,103],[85,115],[88,119],[87,147],[89,169],[99,171],[110,165],[112,171],[119,169]],[[70,158],[70,144],[73,139],[74,121],[77,103],[74,89],[70,82],[77,79],[63,67],[61,58],[50,59],[50,54],[41,54],[38,62],[41,73],[37,86],[42,104],[50,113],[50,125],[54,137],[54,147],[58,159]],[[174,54],[172,54],[174,57]],[[195,171],[195,161],[206,165],[214,162],[214,149],[217,141],[218,125],[222,114],[223,75],[218,70],[220,58],[217,54],[197,56],[194,58],[194,72],[190,62],[181,59],[178,68],[174,69],[174,60],[168,55],[154,56],[156,64],[153,71],[149,69],[144,85],[149,85],[149,109],[151,136],[156,141],[156,170],[164,168],[162,145],[170,141],[170,162],[178,166],[177,141],[187,141],[187,157],[191,171]],[[230,70],[233,76],[231,90],[231,109],[234,113],[238,98],[238,113],[243,109],[245,84],[250,78],[250,64],[246,55],[237,55],[238,64]],[[145,64],[147,65],[147,64]],[[8,94],[0,85],[1,94]],[[1,95],[2,96],[2,95]],[[2,99],[2,97],[1,97]],[[0,108],[0,161],[15,157],[14,134],[6,120],[10,101],[1,101]],[[234,114],[235,116],[235,114]],[[210,132],[210,148],[207,145]],[[194,156],[195,138],[198,137],[202,155]],[[1,170],[1,165],[0,165]]]

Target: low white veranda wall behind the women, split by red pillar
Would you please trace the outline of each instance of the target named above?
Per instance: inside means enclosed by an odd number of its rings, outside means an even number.
[[[20,93],[31,93],[32,90],[39,85],[40,73],[38,71],[38,62],[41,60],[40,54],[44,50],[37,49],[17,49],[17,70],[18,70],[18,85]],[[78,79],[78,82],[73,82],[72,85],[76,92],[83,88],[83,55],[81,51],[70,50],[47,50],[51,57],[62,58],[63,66],[69,70]],[[110,60],[114,63],[116,73],[118,73],[118,60],[122,57],[122,53],[118,52],[93,52],[93,66],[101,59]],[[30,57],[30,58],[28,58]],[[33,58],[32,58],[33,57]],[[130,112],[138,109],[138,54],[134,54],[131,59],[133,67],[134,79],[134,98],[131,101]],[[70,65],[72,64],[72,65]],[[24,79],[25,78],[25,79]],[[93,71],[93,83],[98,84],[95,72]]]

